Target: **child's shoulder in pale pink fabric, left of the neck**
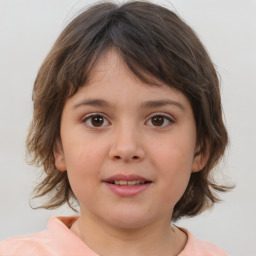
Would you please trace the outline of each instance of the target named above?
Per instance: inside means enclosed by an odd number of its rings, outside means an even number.
[[[0,242],[0,256],[95,256],[69,229],[77,218],[52,217],[42,232],[4,240]]]

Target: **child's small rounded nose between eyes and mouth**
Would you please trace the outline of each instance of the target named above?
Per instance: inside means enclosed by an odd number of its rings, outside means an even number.
[[[115,131],[109,157],[124,162],[140,162],[145,158],[142,138],[136,127],[119,128]]]

